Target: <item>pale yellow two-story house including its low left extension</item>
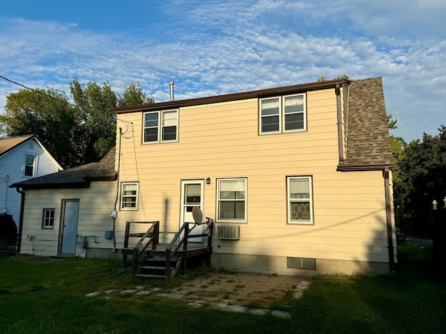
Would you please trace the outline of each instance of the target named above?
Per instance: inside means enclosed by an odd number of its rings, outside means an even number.
[[[114,110],[114,168],[110,158],[97,164],[117,172],[116,181],[95,179],[93,166],[90,178],[67,178],[52,191],[45,177],[15,184],[26,193],[22,239],[38,235],[22,253],[65,253],[70,200],[75,230],[87,239],[72,249],[83,256],[117,256],[126,221],[160,221],[175,232],[198,206],[215,221],[213,267],[376,274],[397,261],[380,77]],[[47,230],[36,223],[45,207],[54,210]]]

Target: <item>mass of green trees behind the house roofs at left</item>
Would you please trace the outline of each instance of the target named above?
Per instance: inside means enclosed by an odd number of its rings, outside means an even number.
[[[98,161],[116,142],[115,106],[153,103],[139,84],[120,97],[108,82],[70,82],[75,105],[59,90],[20,90],[6,97],[0,129],[6,136],[36,134],[63,168]]]

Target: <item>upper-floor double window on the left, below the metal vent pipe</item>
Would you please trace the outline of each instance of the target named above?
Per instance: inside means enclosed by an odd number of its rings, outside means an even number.
[[[144,113],[143,143],[178,141],[178,110]]]

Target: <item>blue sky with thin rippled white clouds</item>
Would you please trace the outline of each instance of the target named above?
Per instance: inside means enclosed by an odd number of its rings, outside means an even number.
[[[446,125],[444,0],[0,0],[0,76],[139,83],[155,102],[382,77],[391,131]],[[0,113],[22,86],[0,78]]]

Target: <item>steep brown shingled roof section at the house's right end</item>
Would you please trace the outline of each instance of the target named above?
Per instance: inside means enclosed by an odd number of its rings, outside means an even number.
[[[346,159],[339,169],[392,167],[393,161],[381,77],[351,81]]]

